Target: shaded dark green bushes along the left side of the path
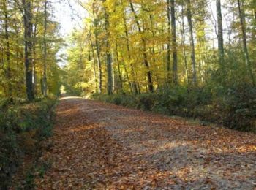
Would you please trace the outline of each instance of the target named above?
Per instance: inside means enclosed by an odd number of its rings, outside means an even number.
[[[24,153],[33,153],[52,128],[54,96],[31,104],[0,108],[0,189],[7,189]]]

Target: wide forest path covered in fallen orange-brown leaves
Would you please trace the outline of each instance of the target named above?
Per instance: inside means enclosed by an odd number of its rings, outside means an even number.
[[[256,135],[64,97],[37,189],[256,189]]]

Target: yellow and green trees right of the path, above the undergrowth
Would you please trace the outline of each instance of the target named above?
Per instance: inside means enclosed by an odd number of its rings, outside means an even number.
[[[208,83],[255,85],[255,0],[80,5],[89,17],[69,40],[65,81],[72,91],[140,94]],[[80,77],[72,78],[74,73]]]

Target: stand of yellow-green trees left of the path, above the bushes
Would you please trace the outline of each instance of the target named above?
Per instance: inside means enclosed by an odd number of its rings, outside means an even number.
[[[12,100],[59,91],[62,39],[48,0],[0,1],[0,96]]]

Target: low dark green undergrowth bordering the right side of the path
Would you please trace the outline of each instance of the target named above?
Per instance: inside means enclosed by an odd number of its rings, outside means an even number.
[[[230,129],[256,131],[256,88],[253,86],[215,89],[178,86],[153,94],[94,94],[91,98],[165,115],[197,118]]]

